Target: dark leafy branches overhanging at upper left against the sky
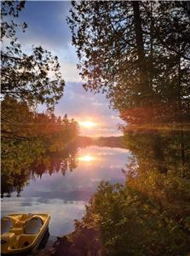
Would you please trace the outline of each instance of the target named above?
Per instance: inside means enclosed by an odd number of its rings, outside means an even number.
[[[24,53],[16,36],[18,29],[26,30],[26,23],[16,23],[25,1],[2,2],[2,94],[26,101],[30,106],[45,103],[49,109],[63,95],[65,82],[61,78],[57,56],[32,46],[30,55]]]

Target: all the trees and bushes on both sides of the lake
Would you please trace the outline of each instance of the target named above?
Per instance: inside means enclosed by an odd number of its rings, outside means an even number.
[[[65,86],[58,58],[42,47],[26,55],[17,42],[16,31],[26,24],[7,16],[16,18],[23,8],[23,1],[2,3],[1,40],[8,44],[2,49],[2,179],[12,185],[10,172],[23,183],[28,173],[43,173],[44,155],[51,170],[56,154],[60,169],[58,151],[62,172],[75,168],[79,135],[74,119],[53,113]],[[54,254],[189,255],[189,2],[72,1],[67,23],[83,88],[104,94],[118,111],[132,156],[125,183],[102,181]],[[37,104],[46,104],[47,113],[37,113]],[[13,187],[7,187],[9,195]]]

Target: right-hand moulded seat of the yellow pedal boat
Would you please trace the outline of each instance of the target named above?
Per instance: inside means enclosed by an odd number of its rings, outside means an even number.
[[[43,220],[39,217],[32,217],[24,225],[24,234],[37,234],[43,226]]]

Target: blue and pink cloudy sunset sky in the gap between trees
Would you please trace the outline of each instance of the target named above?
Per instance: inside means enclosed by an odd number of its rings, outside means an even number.
[[[76,67],[78,58],[72,45],[72,33],[66,23],[69,9],[70,1],[26,1],[25,9],[20,12],[20,21],[26,21],[28,27],[25,33],[20,34],[20,42],[26,52],[32,45],[41,45],[59,58],[66,87],[64,96],[55,106],[56,115],[66,113],[78,122],[94,122],[96,125],[91,128],[80,126],[83,136],[119,136],[118,124],[122,120],[116,111],[109,108],[106,96],[83,90],[83,81]]]

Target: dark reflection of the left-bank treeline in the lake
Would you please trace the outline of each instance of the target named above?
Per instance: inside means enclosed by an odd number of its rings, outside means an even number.
[[[26,149],[26,148],[25,148]],[[72,172],[77,166],[77,148],[75,146],[67,147],[65,150],[60,152],[54,152],[45,154],[39,157],[38,160],[33,159],[32,164],[28,162],[28,165],[22,164],[19,159],[14,159],[15,168],[7,172],[7,168],[3,168],[1,175],[1,197],[10,197],[13,192],[20,196],[21,191],[28,184],[29,179],[42,177],[43,173],[49,173],[51,176],[53,173],[61,172],[63,175],[67,171]],[[7,159],[3,164],[9,166]],[[3,170],[4,169],[4,170]],[[4,171],[4,172],[3,172]]]

